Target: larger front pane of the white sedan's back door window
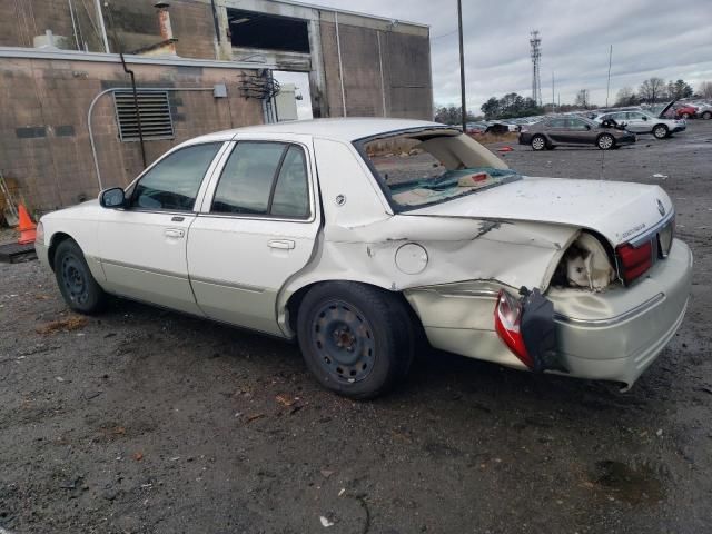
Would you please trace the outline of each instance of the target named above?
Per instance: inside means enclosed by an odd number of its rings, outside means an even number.
[[[211,211],[267,215],[271,185],[286,148],[281,142],[238,142],[218,181]]]

